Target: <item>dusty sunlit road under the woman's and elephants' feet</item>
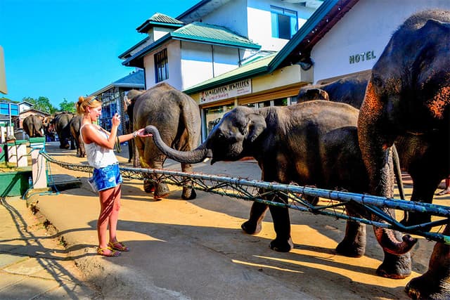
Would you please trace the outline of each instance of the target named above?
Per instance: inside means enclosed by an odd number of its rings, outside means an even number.
[[[65,162],[86,160],[52,144],[46,149]],[[126,151],[120,154],[120,163],[129,167],[127,158]],[[178,166],[172,162],[167,167]],[[196,164],[195,171],[259,178],[253,160]],[[259,235],[240,230],[250,202],[203,192],[195,200],[180,200],[177,187],[155,202],[136,180],[124,182],[118,233],[131,252],[119,258],[98,256],[98,197],[86,184],[87,174],[53,164],[51,172],[77,176],[84,184],[31,201],[38,201],[37,209],[63,236],[84,280],[99,287],[105,299],[409,299],[404,286],[411,278],[375,275],[383,253],[370,228],[366,256],[351,259],[334,252],[344,221],[291,211],[295,249],[273,252],[268,247],[274,238],[269,214]],[[437,203],[449,200],[439,197]],[[412,277],[428,268],[433,245],[420,239],[413,249]]]

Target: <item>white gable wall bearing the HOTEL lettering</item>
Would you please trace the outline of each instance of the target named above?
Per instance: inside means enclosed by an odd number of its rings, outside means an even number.
[[[392,33],[410,15],[427,8],[450,8],[449,0],[360,0],[314,46],[314,81],[370,70]],[[349,56],[373,51],[375,58],[349,63]],[[366,57],[365,57],[366,58]]]

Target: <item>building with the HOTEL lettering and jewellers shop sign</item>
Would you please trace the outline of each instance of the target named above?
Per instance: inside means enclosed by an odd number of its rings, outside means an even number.
[[[450,1],[323,1],[280,51],[184,89],[200,105],[203,138],[236,105],[289,105],[304,84],[371,70],[397,27],[430,8]]]

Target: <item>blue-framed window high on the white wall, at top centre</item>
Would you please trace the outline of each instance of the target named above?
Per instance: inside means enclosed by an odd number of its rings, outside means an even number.
[[[272,37],[290,39],[298,30],[297,11],[271,6]]]

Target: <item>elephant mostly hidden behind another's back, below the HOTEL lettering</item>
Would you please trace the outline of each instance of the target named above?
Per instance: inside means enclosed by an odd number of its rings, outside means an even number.
[[[309,100],[330,100],[347,103],[359,109],[370,77],[370,72],[362,72],[342,77],[328,84],[303,86],[298,92],[297,103]]]

